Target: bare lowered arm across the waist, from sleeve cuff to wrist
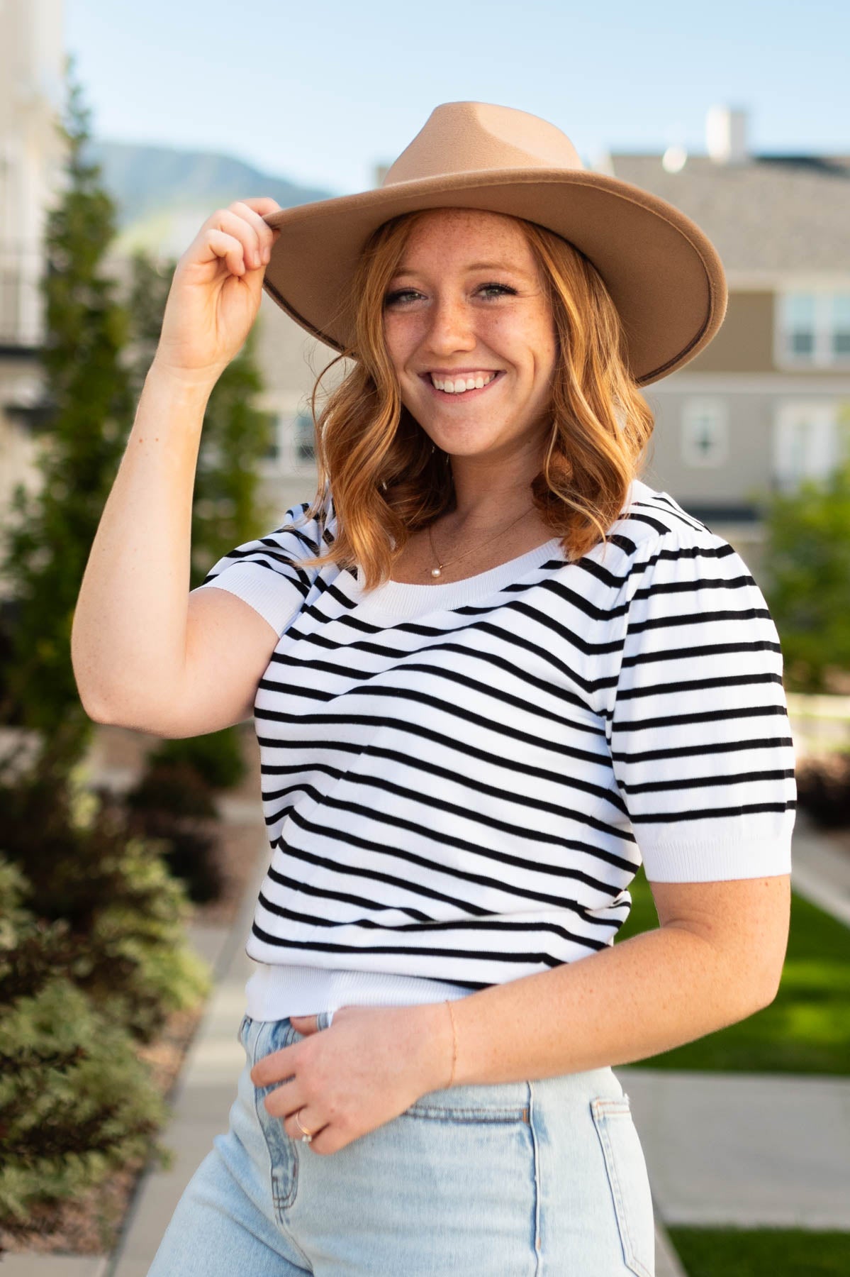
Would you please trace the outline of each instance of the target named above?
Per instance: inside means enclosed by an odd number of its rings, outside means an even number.
[[[452,1004],[456,1085],[632,1064],[770,1005],[787,944],[790,875],[651,886],[657,931]],[[414,1014],[430,1031],[431,1087],[444,1087],[445,1008],[429,1002]]]

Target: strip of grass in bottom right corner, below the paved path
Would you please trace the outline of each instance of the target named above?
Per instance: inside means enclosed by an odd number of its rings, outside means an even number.
[[[667,1228],[688,1277],[846,1277],[850,1232]]]

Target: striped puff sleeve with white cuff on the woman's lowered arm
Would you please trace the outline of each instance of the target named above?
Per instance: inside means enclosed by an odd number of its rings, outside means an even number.
[[[647,879],[789,873],[782,654],[747,564],[708,529],[667,531],[638,547],[622,603],[606,736]]]

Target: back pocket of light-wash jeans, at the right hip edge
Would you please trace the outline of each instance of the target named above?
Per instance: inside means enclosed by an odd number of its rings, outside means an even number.
[[[629,1098],[597,1096],[591,1099],[591,1114],[605,1157],[623,1258],[637,1277],[653,1277],[652,1193]]]

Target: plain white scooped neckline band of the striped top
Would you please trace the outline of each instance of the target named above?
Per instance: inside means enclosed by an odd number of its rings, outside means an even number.
[[[461,581],[448,581],[444,585],[385,581],[366,594],[362,590],[362,582],[351,577],[351,590],[357,598],[359,616],[366,616],[371,612],[392,617],[420,616],[424,612],[452,610],[486,599],[505,585],[513,585],[526,572],[540,567],[541,563],[551,558],[567,562],[558,536],[550,538],[526,554],[519,554],[518,558],[499,563],[488,572],[466,576]]]

